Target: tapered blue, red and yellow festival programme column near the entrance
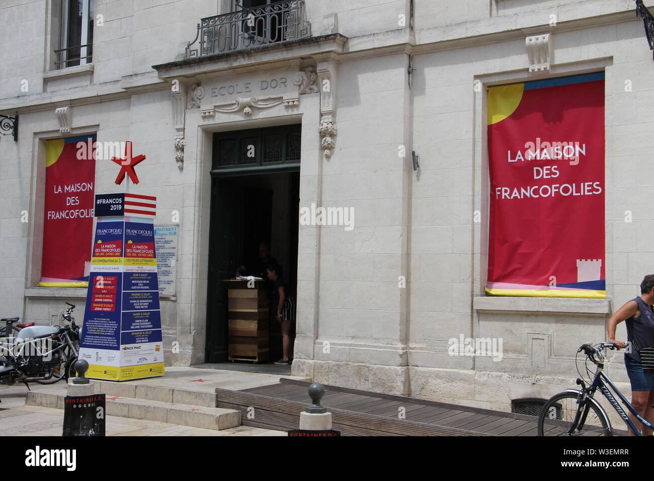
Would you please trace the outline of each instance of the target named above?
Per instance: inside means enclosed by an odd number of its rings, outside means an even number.
[[[154,219],[97,218],[80,359],[88,378],[163,376]]]

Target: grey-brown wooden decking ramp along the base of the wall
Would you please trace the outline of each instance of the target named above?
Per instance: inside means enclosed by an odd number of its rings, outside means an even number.
[[[298,429],[311,400],[309,382],[281,378],[278,384],[230,391],[216,389],[219,408],[241,410],[245,426]],[[404,396],[325,385],[321,404],[343,436],[536,436],[536,418]],[[400,419],[399,408],[405,418]]]

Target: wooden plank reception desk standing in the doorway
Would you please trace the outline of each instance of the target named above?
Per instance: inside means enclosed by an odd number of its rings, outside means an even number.
[[[226,279],[225,282],[228,288],[228,359],[267,362],[269,302],[266,281]],[[248,287],[249,282],[254,282],[254,287]]]

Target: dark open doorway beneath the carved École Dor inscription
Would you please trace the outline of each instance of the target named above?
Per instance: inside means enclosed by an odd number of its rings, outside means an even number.
[[[288,145],[288,138],[293,142],[299,139],[299,126],[291,126],[277,132],[275,129],[260,129],[241,131],[236,135],[216,134],[215,150],[225,151],[220,139],[235,140],[236,152],[247,152],[249,145],[239,148],[239,143],[250,143],[261,151],[262,158],[241,160],[240,164],[247,168],[239,169],[238,153],[233,163],[225,163],[225,159],[214,158],[214,165],[223,167],[212,170],[211,187],[211,227],[209,245],[209,270],[207,281],[207,331],[206,331],[206,363],[228,363],[228,365],[213,366],[218,368],[236,368],[255,372],[267,372],[271,363],[281,359],[282,336],[281,325],[275,319],[268,297],[269,313],[266,323],[267,332],[260,332],[260,337],[267,337],[267,353],[254,362],[238,361],[230,355],[230,314],[228,313],[228,289],[231,287],[228,279],[235,277],[239,266],[247,267],[247,274],[258,276],[252,266],[260,264],[260,244],[267,243],[271,257],[281,266],[281,274],[286,281],[287,296],[296,298],[298,278],[298,209],[300,203],[300,165],[299,156],[293,158],[298,146]],[[255,137],[257,137],[255,139]],[[276,166],[266,165],[266,155],[271,150],[268,142],[279,137],[286,145],[279,149]],[[286,140],[284,140],[286,139]],[[288,141],[288,142],[287,142]],[[216,149],[217,148],[217,149]],[[268,152],[268,153],[266,153]],[[231,161],[230,161],[231,162]],[[221,165],[223,164],[223,165]],[[270,285],[266,288],[272,291]],[[300,300],[301,302],[301,300]],[[262,316],[259,316],[261,321]],[[233,322],[233,320],[232,320]],[[260,323],[261,325],[261,323]],[[294,325],[290,333],[294,338]],[[291,352],[292,356],[292,352]],[[241,356],[243,358],[243,356]],[[247,359],[247,356],[245,356]],[[266,361],[267,359],[267,361]],[[267,363],[266,363],[267,362]],[[237,364],[238,363],[238,364]],[[275,366],[270,372],[290,372],[290,366]]]

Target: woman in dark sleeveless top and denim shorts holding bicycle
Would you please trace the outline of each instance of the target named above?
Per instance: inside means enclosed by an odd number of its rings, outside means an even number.
[[[654,274],[645,276],[640,283],[640,296],[628,301],[609,318],[606,334],[609,342],[625,349],[625,367],[631,382],[631,405],[645,419],[654,418]],[[615,327],[627,323],[627,341],[615,340]],[[643,436],[651,436],[651,429],[645,427],[636,416],[629,414],[636,425],[642,427]],[[630,436],[634,434],[630,431]]]

